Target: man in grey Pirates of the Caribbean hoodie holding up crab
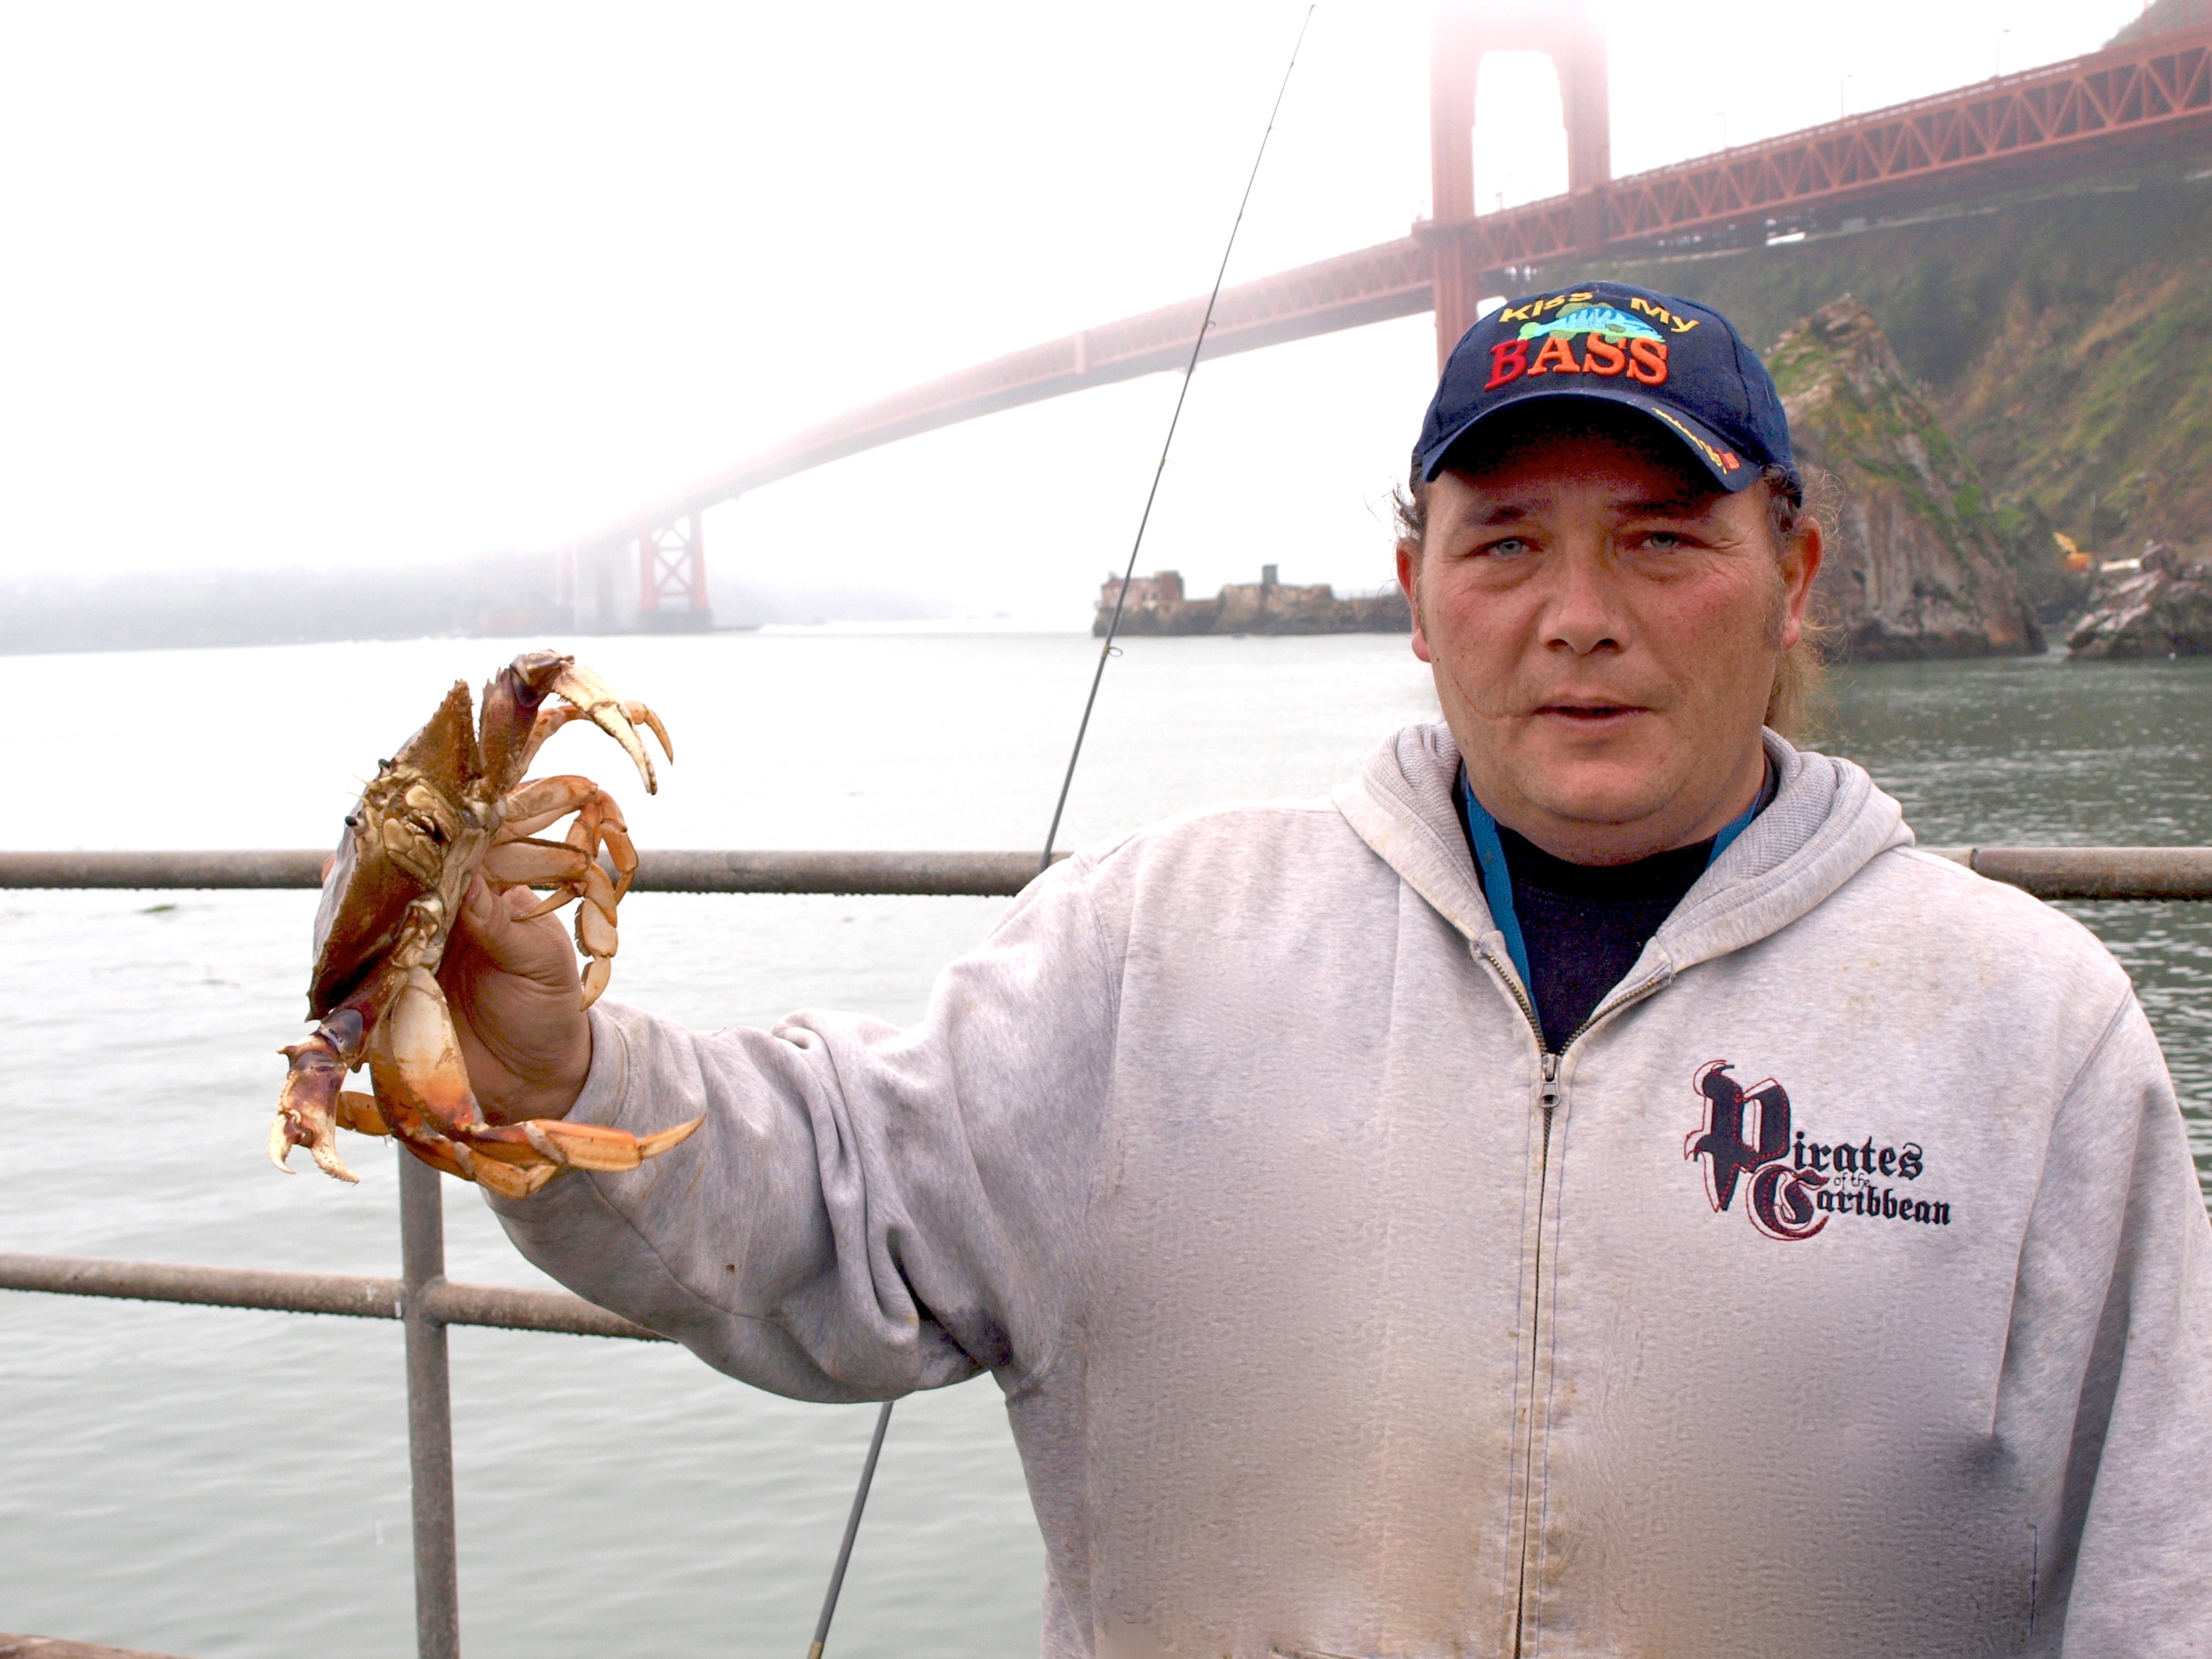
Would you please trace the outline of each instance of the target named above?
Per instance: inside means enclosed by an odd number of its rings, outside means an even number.
[[[1818,526],[1719,314],[1460,343],[1442,726],[1040,876],[911,1031],[695,1035],[478,891],[493,1113],[706,1126],[498,1203],[710,1365],[1006,1391],[1048,1655],[2212,1650],[2212,1263],[2057,911],[1763,717]]]

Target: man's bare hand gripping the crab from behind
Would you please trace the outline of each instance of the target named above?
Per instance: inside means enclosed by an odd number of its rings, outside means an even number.
[[[553,916],[518,920],[535,902],[526,887],[495,894],[473,880],[438,969],[469,1086],[493,1124],[564,1117],[591,1071],[575,947]]]

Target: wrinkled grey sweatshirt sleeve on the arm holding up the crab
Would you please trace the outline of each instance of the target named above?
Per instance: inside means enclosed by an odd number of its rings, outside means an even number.
[[[489,1199],[509,1239],[580,1296],[803,1400],[1042,1369],[1113,1057],[1086,863],[1040,876],[907,1031],[799,1013],[699,1035],[599,1004],[571,1117],[706,1121],[639,1170]]]

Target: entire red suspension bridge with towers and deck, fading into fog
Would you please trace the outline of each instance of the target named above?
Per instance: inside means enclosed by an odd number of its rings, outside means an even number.
[[[1442,358],[1484,294],[1526,283],[1544,265],[1858,228],[2190,157],[2212,139],[2212,22],[2205,7],[2181,4],[2146,11],[2132,40],[2084,58],[1615,179],[1606,44],[1590,9],[1528,11],[1460,4],[1438,20],[1429,53],[1433,217],[1398,241],[1225,288],[1206,356],[1433,312]],[[2161,13],[2181,24],[2161,29]],[[1568,139],[1566,192],[1478,217],[1475,77],[1493,51],[1551,58]],[[635,626],[706,628],[708,507],[960,420],[1179,369],[1203,310],[1203,296],[1188,299],[863,403],[648,502],[571,544],[566,580],[580,619],[593,611],[591,588],[597,624],[622,626],[611,615],[613,595],[635,580]]]

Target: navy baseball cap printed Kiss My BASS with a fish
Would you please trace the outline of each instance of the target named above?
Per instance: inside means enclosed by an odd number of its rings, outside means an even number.
[[[1420,425],[1413,473],[1433,480],[1475,427],[1533,398],[1641,409],[1728,491],[1767,467],[1796,480],[1781,392],[1734,323],[1628,283],[1571,283],[1515,299],[1467,330]]]

